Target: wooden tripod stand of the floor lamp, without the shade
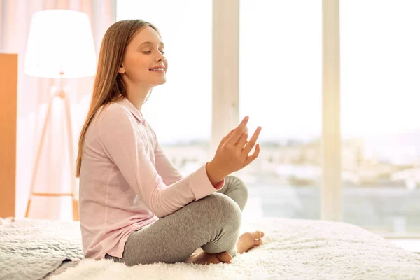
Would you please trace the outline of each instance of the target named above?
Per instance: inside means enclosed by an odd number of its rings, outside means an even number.
[[[31,200],[34,196],[41,196],[41,197],[61,197],[61,196],[71,196],[72,197],[72,208],[73,208],[73,221],[78,221],[78,200],[76,199],[76,172],[75,172],[75,166],[73,163],[73,138],[71,134],[71,114],[70,114],[70,102],[69,97],[66,95],[66,92],[63,89],[63,75],[64,73],[60,73],[60,87],[59,91],[55,92],[52,97],[50,97],[50,101],[48,102],[48,109],[45,116],[45,121],[43,123],[42,128],[42,134],[41,134],[41,141],[39,141],[38,144],[38,150],[36,152],[36,160],[34,165],[34,171],[32,173],[32,182],[31,182],[31,190],[29,193],[29,199],[27,202],[27,209],[25,218],[28,218],[29,216],[29,209],[31,207]],[[54,99],[56,97],[61,98],[64,101],[64,118],[66,119],[66,134],[67,134],[67,145],[69,150],[69,166],[70,166],[70,181],[71,181],[71,193],[35,193],[34,192],[34,186],[36,181],[36,174],[38,173],[38,167],[39,167],[39,160],[41,158],[41,151],[43,148],[43,144],[45,141],[45,132],[47,129],[48,123],[50,123],[51,118],[51,109],[52,104],[54,102]]]

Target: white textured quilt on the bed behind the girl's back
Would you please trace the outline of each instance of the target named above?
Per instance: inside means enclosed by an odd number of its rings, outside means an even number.
[[[78,223],[18,219],[0,228],[0,279],[43,279],[64,260],[81,260]]]

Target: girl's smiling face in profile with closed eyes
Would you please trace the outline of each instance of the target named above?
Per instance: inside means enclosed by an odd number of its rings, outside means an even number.
[[[154,87],[166,83],[167,60],[160,35],[152,27],[141,29],[125,50],[118,73],[134,87]]]

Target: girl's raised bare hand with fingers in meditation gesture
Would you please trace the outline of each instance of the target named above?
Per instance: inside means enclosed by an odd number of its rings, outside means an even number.
[[[260,135],[261,127],[257,127],[251,139],[247,141],[248,130],[246,123],[248,123],[248,119],[248,116],[246,116],[235,129],[223,137],[217,148],[216,155],[214,155],[214,159],[208,163],[209,171],[218,174],[216,177],[225,178],[225,176],[228,176],[232,172],[246,167],[246,165],[249,165],[258,157],[260,145],[257,144],[255,146],[255,142]],[[255,146],[254,153],[248,155],[253,146]]]

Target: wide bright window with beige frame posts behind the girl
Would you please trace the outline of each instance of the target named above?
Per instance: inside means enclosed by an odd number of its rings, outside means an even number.
[[[376,232],[420,232],[418,1],[246,0],[240,6],[222,0],[117,3],[118,20],[142,18],[162,31],[168,81],[153,90],[144,113],[183,174],[209,160],[210,140],[216,142],[220,136],[215,134],[222,134],[236,117],[248,115],[250,135],[258,126],[262,132],[259,158],[236,172],[249,186],[246,218],[318,219],[322,211],[324,217],[339,220],[332,214],[343,210],[344,221]],[[165,9],[160,8],[163,5]],[[237,13],[232,18],[228,14],[238,8],[239,34]],[[339,18],[340,38],[337,30],[323,30],[323,13],[332,22]],[[213,19],[222,24],[213,26]],[[323,36],[326,30],[328,36]],[[213,33],[218,40],[231,38],[237,43],[239,38],[239,67],[235,57],[223,64],[216,61],[227,54],[233,57],[236,50],[223,51],[232,45],[220,40],[223,45],[217,43],[213,50],[216,65],[227,66],[234,78],[239,71],[239,100],[235,79],[223,75],[216,76],[214,83],[222,85],[222,92],[212,92]],[[334,45],[338,40],[340,52],[323,57],[323,44]],[[322,108],[323,78],[332,85],[340,83],[338,75],[323,77],[323,66],[328,66],[323,59],[341,63],[341,96],[339,92],[335,96],[335,90],[324,94],[325,104],[341,99],[341,116],[338,110]],[[200,63],[200,71],[192,71],[190,65],[195,62]],[[232,83],[226,85],[225,80]],[[212,111],[212,94],[227,106]],[[161,111],[166,112],[165,118]],[[329,162],[338,161],[339,153],[332,153],[338,145],[321,151],[321,135],[340,133],[338,126],[328,126],[328,133],[322,134],[327,131],[321,127],[325,112],[341,122],[341,168]],[[227,116],[225,123],[216,116]],[[324,170],[322,153],[332,155],[324,157],[329,162]],[[324,178],[333,180],[322,184],[323,172]],[[337,183],[339,172],[342,186]],[[330,203],[338,197],[332,194],[341,190],[343,209],[341,203]]]

